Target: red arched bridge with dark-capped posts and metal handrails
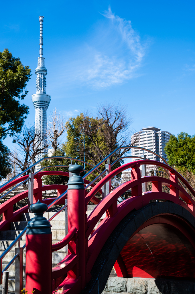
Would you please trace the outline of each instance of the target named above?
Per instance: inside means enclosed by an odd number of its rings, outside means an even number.
[[[117,151],[118,148],[113,153]],[[33,173],[28,176],[18,175],[1,186],[0,193],[11,187],[16,188],[16,184],[27,179],[29,181],[28,191],[1,204],[0,214],[3,214],[3,220],[0,230],[10,230],[11,222],[19,221],[22,213],[27,213],[29,209],[35,213],[35,218],[28,223],[27,229],[25,228],[1,255],[1,277],[3,258],[26,232],[28,293],[33,290],[35,294],[57,291],[61,294],[102,293],[113,266],[118,277],[195,279],[193,188],[158,155],[161,161],[138,158],[137,161],[115,169],[115,163],[112,166],[108,163],[106,169],[100,172],[98,167],[107,161],[109,156],[97,166],[92,166],[91,171],[83,177],[79,176],[83,170],[82,166],[70,166],[72,177],[69,178],[68,187],[42,185],[42,177],[45,175],[69,176],[69,173],[62,171],[39,171],[34,176]],[[168,177],[141,176],[140,168],[146,165],[161,167]],[[129,168],[132,169],[131,180],[112,190],[111,179]],[[86,178],[94,171],[98,171],[99,176],[89,182]],[[97,178],[101,180],[94,184]],[[152,183],[152,191],[147,191],[147,182]],[[162,191],[162,185],[169,188],[168,192]],[[89,186],[91,190],[87,193]],[[102,187],[106,187],[103,192]],[[57,189],[57,198],[42,199],[42,192],[51,189]],[[119,202],[118,198],[130,189],[131,197]],[[95,197],[98,191],[104,196],[101,201]],[[13,205],[26,197],[29,199],[28,205],[13,212]],[[89,201],[98,205],[87,217]],[[51,226],[48,220],[43,218],[43,212],[55,204],[64,205],[55,215],[67,206],[68,233],[60,242],[51,245]],[[106,217],[96,227],[104,213]],[[68,254],[52,268],[52,252],[67,244]],[[16,260],[17,254],[4,271]],[[21,291],[21,282],[19,287]]]

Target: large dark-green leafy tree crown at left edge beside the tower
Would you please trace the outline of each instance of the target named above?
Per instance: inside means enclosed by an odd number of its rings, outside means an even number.
[[[29,66],[24,66],[19,58],[14,58],[8,49],[0,52],[0,137],[13,136],[22,130],[29,107],[20,104],[31,76]]]

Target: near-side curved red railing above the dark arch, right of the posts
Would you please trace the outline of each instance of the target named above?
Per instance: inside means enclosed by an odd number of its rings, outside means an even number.
[[[169,171],[170,179],[158,177],[158,176],[140,176],[140,165],[142,164],[152,164],[156,166],[161,166]],[[149,204],[151,200],[159,199],[161,201],[171,201],[177,203],[182,207],[186,208],[190,213],[195,216],[195,202],[193,198],[186,192],[186,190],[179,185],[178,178],[184,183],[184,185],[189,189],[193,196],[195,196],[195,191],[189,185],[189,183],[173,168],[156,161],[151,160],[141,160],[134,161],[125,164],[105,176],[101,181],[99,181],[96,186],[94,186],[91,191],[86,196],[86,205],[94,197],[96,192],[111,178],[116,176],[123,170],[127,168],[132,168],[132,180],[121,184],[113,191],[111,191],[91,212],[87,219],[86,227],[86,240],[89,238],[88,243],[88,255],[87,260],[87,273],[90,273],[94,262],[104,246],[108,236],[116,228],[116,225],[133,209],[138,210],[142,206]],[[152,182],[152,191],[145,192],[142,195],[142,183]],[[162,192],[162,185],[170,188],[170,193]],[[119,205],[117,205],[118,197],[131,189],[132,197],[126,199]],[[179,199],[179,196],[184,200]],[[94,230],[94,227],[101,219],[102,215],[106,212],[106,217],[101,221],[101,223]],[[90,274],[87,278],[87,282],[90,280]],[[63,284],[63,283],[62,283]],[[62,284],[59,286],[61,287]],[[58,289],[58,288],[56,288]]]

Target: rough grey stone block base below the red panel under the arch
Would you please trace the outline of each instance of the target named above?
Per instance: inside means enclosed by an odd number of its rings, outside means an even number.
[[[109,277],[102,294],[195,294],[195,281]]]

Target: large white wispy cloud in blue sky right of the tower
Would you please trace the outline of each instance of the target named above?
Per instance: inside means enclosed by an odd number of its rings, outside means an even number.
[[[141,42],[131,21],[115,15],[110,7],[102,15],[102,23],[63,64],[66,70],[61,78],[66,83],[102,89],[139,75],[149,41]]]

